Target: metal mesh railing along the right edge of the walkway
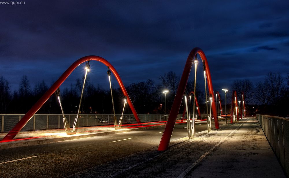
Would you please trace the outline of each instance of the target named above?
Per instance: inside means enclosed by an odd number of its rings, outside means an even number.
[[[260,114],[256,117],[282,167],[289,175],[289,119]]]

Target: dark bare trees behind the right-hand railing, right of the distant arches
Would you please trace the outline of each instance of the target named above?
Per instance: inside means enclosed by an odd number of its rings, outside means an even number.
[[[249,79],[235,80],[231,86],[232,90],[237,91],[238,100],[241,92],[244,92],[247,114],[289,116],[289,75],[284,78],[281,73],[269,72],[255,85]]]

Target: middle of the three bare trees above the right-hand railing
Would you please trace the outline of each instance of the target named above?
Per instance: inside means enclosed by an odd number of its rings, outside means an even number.
[[[269,85],[267,82],[259,81],[255,88],[255,98],[262,105],[268,105],[271,100]]]

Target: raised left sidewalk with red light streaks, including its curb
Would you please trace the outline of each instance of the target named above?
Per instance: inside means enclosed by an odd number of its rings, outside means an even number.
[[[177,120],[176,124],[178,123],[185,123],[185,121],[180,122],[180,120]],[[142,126],[139,126],[137,123],[123,124],[121,129],[119,130],[114,129],[114,125],[79,127],[77,130],[77,134],[75,135],[66,135],[64,129],[20,131],[13,139],[13,141],[1,142],[1,140],[6,136],[6,132],[0,133],[0,150],[43,143],[59,142],[64,140],[103,136],[129,131],[152,129],[156,127],[164,127],[165,125],[166,121],[157,121],[142,123]]]

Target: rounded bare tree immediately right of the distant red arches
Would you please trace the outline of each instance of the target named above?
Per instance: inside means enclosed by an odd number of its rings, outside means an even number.
[[[254,103],[254,86],[251,80],[235,80],[231,86],[231,91],[236,90],[237,95],[241,98],[242,92],[244,92],[244,101],[245,104]]]

